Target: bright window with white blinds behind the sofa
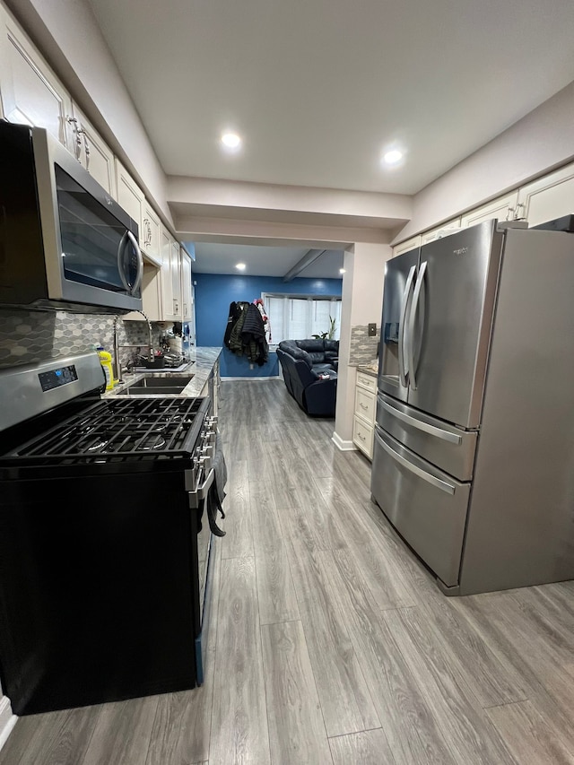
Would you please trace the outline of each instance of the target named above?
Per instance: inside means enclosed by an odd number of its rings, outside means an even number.
[[[341,298],[305,295],[262,296],[271,328],[271,344],[282,340],[304,340],[313,335],[328,334],[335,319],[333,339],[341,330]]]

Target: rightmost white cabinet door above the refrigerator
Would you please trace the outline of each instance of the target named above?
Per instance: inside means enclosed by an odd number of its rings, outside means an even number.
[[[574,213],[574,164],[518,189],[517,216],[529,226]]]

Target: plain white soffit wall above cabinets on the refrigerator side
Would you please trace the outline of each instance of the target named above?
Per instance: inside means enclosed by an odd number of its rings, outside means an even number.
[[[572,158],[574,83],[415,195],[413,218],[394,241],[431,229]]]

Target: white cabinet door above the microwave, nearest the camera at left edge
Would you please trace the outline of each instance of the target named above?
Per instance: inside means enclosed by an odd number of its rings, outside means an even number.
[[[0,6],[2,42],[0,78],[4,117],[10,122],[45,127],[74,152],[69,130],[72,99],[12,15]]]

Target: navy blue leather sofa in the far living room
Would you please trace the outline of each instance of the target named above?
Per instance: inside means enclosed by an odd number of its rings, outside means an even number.
[[[336,340],[279,343],[277,358],[285,386],[303,412],[315,417],[335,417],[338,352]]]

